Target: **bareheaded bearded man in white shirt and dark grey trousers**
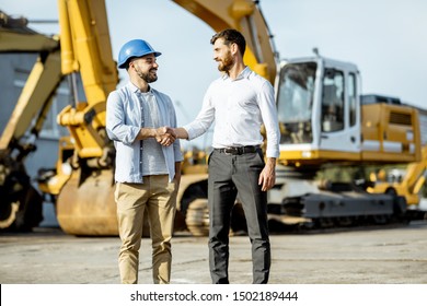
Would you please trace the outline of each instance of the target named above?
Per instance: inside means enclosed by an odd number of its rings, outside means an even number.
[[[239,192],[252,244],[253,283],[267,283],[270,245],[267,193],[276,180],[279,127],[272,84],[243,62],[245,39],[235,30],[211,38],[214,60],[221,78],[206,92],[196,119],[175,129],[177,138],[192,140],[205,133],[214,120],[214,151],[209,156],[209,267],[212,283],[229,283],[230,214]],[[264,123],[266,161],[261,144]]]

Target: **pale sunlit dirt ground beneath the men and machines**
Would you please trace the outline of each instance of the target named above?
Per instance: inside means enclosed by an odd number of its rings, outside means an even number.
[[[427,222],[272,235],[272,284],[427,284]],[[58,227],[0,234],[1,284],[117,284],[118,237],[76,237]],[[150,284],[143,238],[139,283]],[[230,238],[230,282],[252,283],[247,236]],[[206,237],[173,238],[173,284],[209,284]]]

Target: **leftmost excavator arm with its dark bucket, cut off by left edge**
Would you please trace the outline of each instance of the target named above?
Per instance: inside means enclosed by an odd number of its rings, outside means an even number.
[[[59,42],[0,11],[0,52],[35,52],[38,58],[0,137],[0,228],[28,231],[43,220],[42,195],[24,162],[35,150],[51,98],[61,82]],[[4,109],[4,108],[3,108]],[[33,137],[24,137],[28,132]]]

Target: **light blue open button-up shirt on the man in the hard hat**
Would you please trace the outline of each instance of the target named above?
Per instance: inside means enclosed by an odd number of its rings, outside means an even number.
[[[176,128],[176,114],[172,99],[150,89],[159,107],[159,123]],[[140,129],[145,127],[141,93],[137,86],[128,82],[125,86],[112,92],[107,98],[106,131],[116,149],[115,180],[119,183],[142,181],[142,145],[136,140]],[[152,128],[152,127],[146,127]],[[160,144],[159,144],[160,145]],[[170,146],[162,146],[170,181],[175,177],[175,163],[182,162],[180,141]]]

